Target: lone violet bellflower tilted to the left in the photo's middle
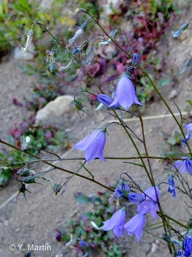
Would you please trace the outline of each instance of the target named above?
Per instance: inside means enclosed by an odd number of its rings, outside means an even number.
[[[86,161],[91,161],[95,158],[100,158],[100,160],[105,160],[103,157],[103,151],[106,142],[106,130],[97,129],[91,134],[86,136],[79,143],[74,145],[75,149],[85,151]]]

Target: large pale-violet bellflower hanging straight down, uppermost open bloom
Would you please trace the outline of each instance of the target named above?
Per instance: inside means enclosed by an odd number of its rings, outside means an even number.
[[[128,109],[132,104],[143,105],[136,96],[136,90],[129,77],[123,74],[118,80],[116,94],[108,107],[115,107],[117,104]]]

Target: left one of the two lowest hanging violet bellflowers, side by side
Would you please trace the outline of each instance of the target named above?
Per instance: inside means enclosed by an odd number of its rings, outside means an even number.
[[[126,212],[124,209],[119,209],[111,218],[104,223],[103,230],[113,230],[113,233],[119,238],[123,234],[123,226],[125,224]]]

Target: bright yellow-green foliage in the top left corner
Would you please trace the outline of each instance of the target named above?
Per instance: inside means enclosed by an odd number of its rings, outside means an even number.
[[[41,21],[49,23],[49,27],[53,28],[55,23],[62,23],[65,18],[65,24],[69,22],[68,17],[61,15],[61,7],[65,0],[57,0],[54,2],[51,11],[47,12],[36,0],[3,0],[0,3],[0,58],[8,52],[8,50],[18,41],[18,36],[27,33],[31,27],[31,21]],[[72,24],[72,25],[73,25]],[[35,28],[35,38],[41,40],[43,38],[42,30]]]

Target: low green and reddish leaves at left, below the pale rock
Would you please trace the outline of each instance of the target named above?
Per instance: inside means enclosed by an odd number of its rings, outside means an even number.
[[[41,150],[56,151],[58,149],[71,148],[68,136],[59,126],[33,125],[34,120],[29,123],[25,120],[15,125],[9,132],[8,141],[21,148],[23,138],[30,138],[30,153],[37,154]],[[0,149],[0,187],[7,186],[12,174],[12,169],[5,169],[7,162],[20,162],[27,160],[25,153],[10,149]],[[30,158],[31,159],[31,158]],[[3,167],[3,168],[2,168]]]

